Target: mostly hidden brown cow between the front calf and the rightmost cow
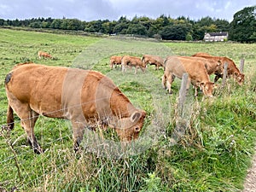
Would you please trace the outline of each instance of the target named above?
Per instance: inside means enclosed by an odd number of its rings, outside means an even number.
[[[214,60],[208,60],[203,57],[197,57],[197,56],[181,56],[182,58],[187,58],[195,61],[202,61],[205,63],[205,67],[207,68],[208,75],[211,74],[223,74],[224,73],[224,67],[221,63],[221,61],[214,61]]]

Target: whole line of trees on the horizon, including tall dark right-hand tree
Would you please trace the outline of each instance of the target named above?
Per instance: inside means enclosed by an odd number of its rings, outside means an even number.
[[[160,15],[156,19],[135,16],[131,20],[121,16],[119,20],[92,20],[32,18],[29,20],[3,20],[0,26],[26,26],[52,28],[103,34],[133,34],[166,40],[202,40],[206,32],[229,32],[229,39],[238,42],[256,42],[256,6],[247,7],[234,15],[234,20],[220,20],[209,16],[190,20],[180,16],[172,19]]]

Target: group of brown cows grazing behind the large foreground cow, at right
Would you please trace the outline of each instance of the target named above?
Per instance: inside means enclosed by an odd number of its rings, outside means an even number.
[[[224,75],[224,63],[227,63],[227,77],[233,77],[238,84],[244,81],[244,74],[239,71],[234,61],[228,57],[209,55],[207,53],[196,53],[192,56],[168,56],[162,59],[157,55],[143,55],[142,58],[137,56],[117,56],[110,57],[109,65],[111,68],[121,65],[122,71],[125,72],[127,67],[141,68],[145,72],[147,65],[154,65],[155,69],[159,67],[164,68],[162,76],[162,85],[172,93],[171,86],[175,77],[182,79],[183,73],[189,74],[189,84],[195,87],[195,96],[197,96],[197,89],[200,88],[205,96],[212,97],[212,90],[219,78]],[[209,75],[215,74],[214,83],[210,81]]]

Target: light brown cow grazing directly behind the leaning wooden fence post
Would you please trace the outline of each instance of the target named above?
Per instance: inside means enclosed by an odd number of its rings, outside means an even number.
[[[189,89],[189,84],[191,83],[195,86],[195,96],[197,96],[197,87],[201,87],[205,96],[212,97],[214,83],[210,81],[207,69],[202,61],[169,56],[165,60],[165,66],[166,69],[162,77],[162,85],[169,93],[172,93],[171,86],[175,77],[182,79],[183,73],[188,73],[187,89]]]

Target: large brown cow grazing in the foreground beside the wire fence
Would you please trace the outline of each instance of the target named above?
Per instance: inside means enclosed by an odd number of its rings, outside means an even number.
[[[84,128],[113,128],[124,143],[137,139],[146,113],[135,108],[111,79],[96,71],[38,64],[20,65],[5,79],[8,97],[7,123],[14,127],[20,117],[28,141],[36,153],[43,149],[34,135],[38,116],[69,119],[74,149],[78,150]]]

